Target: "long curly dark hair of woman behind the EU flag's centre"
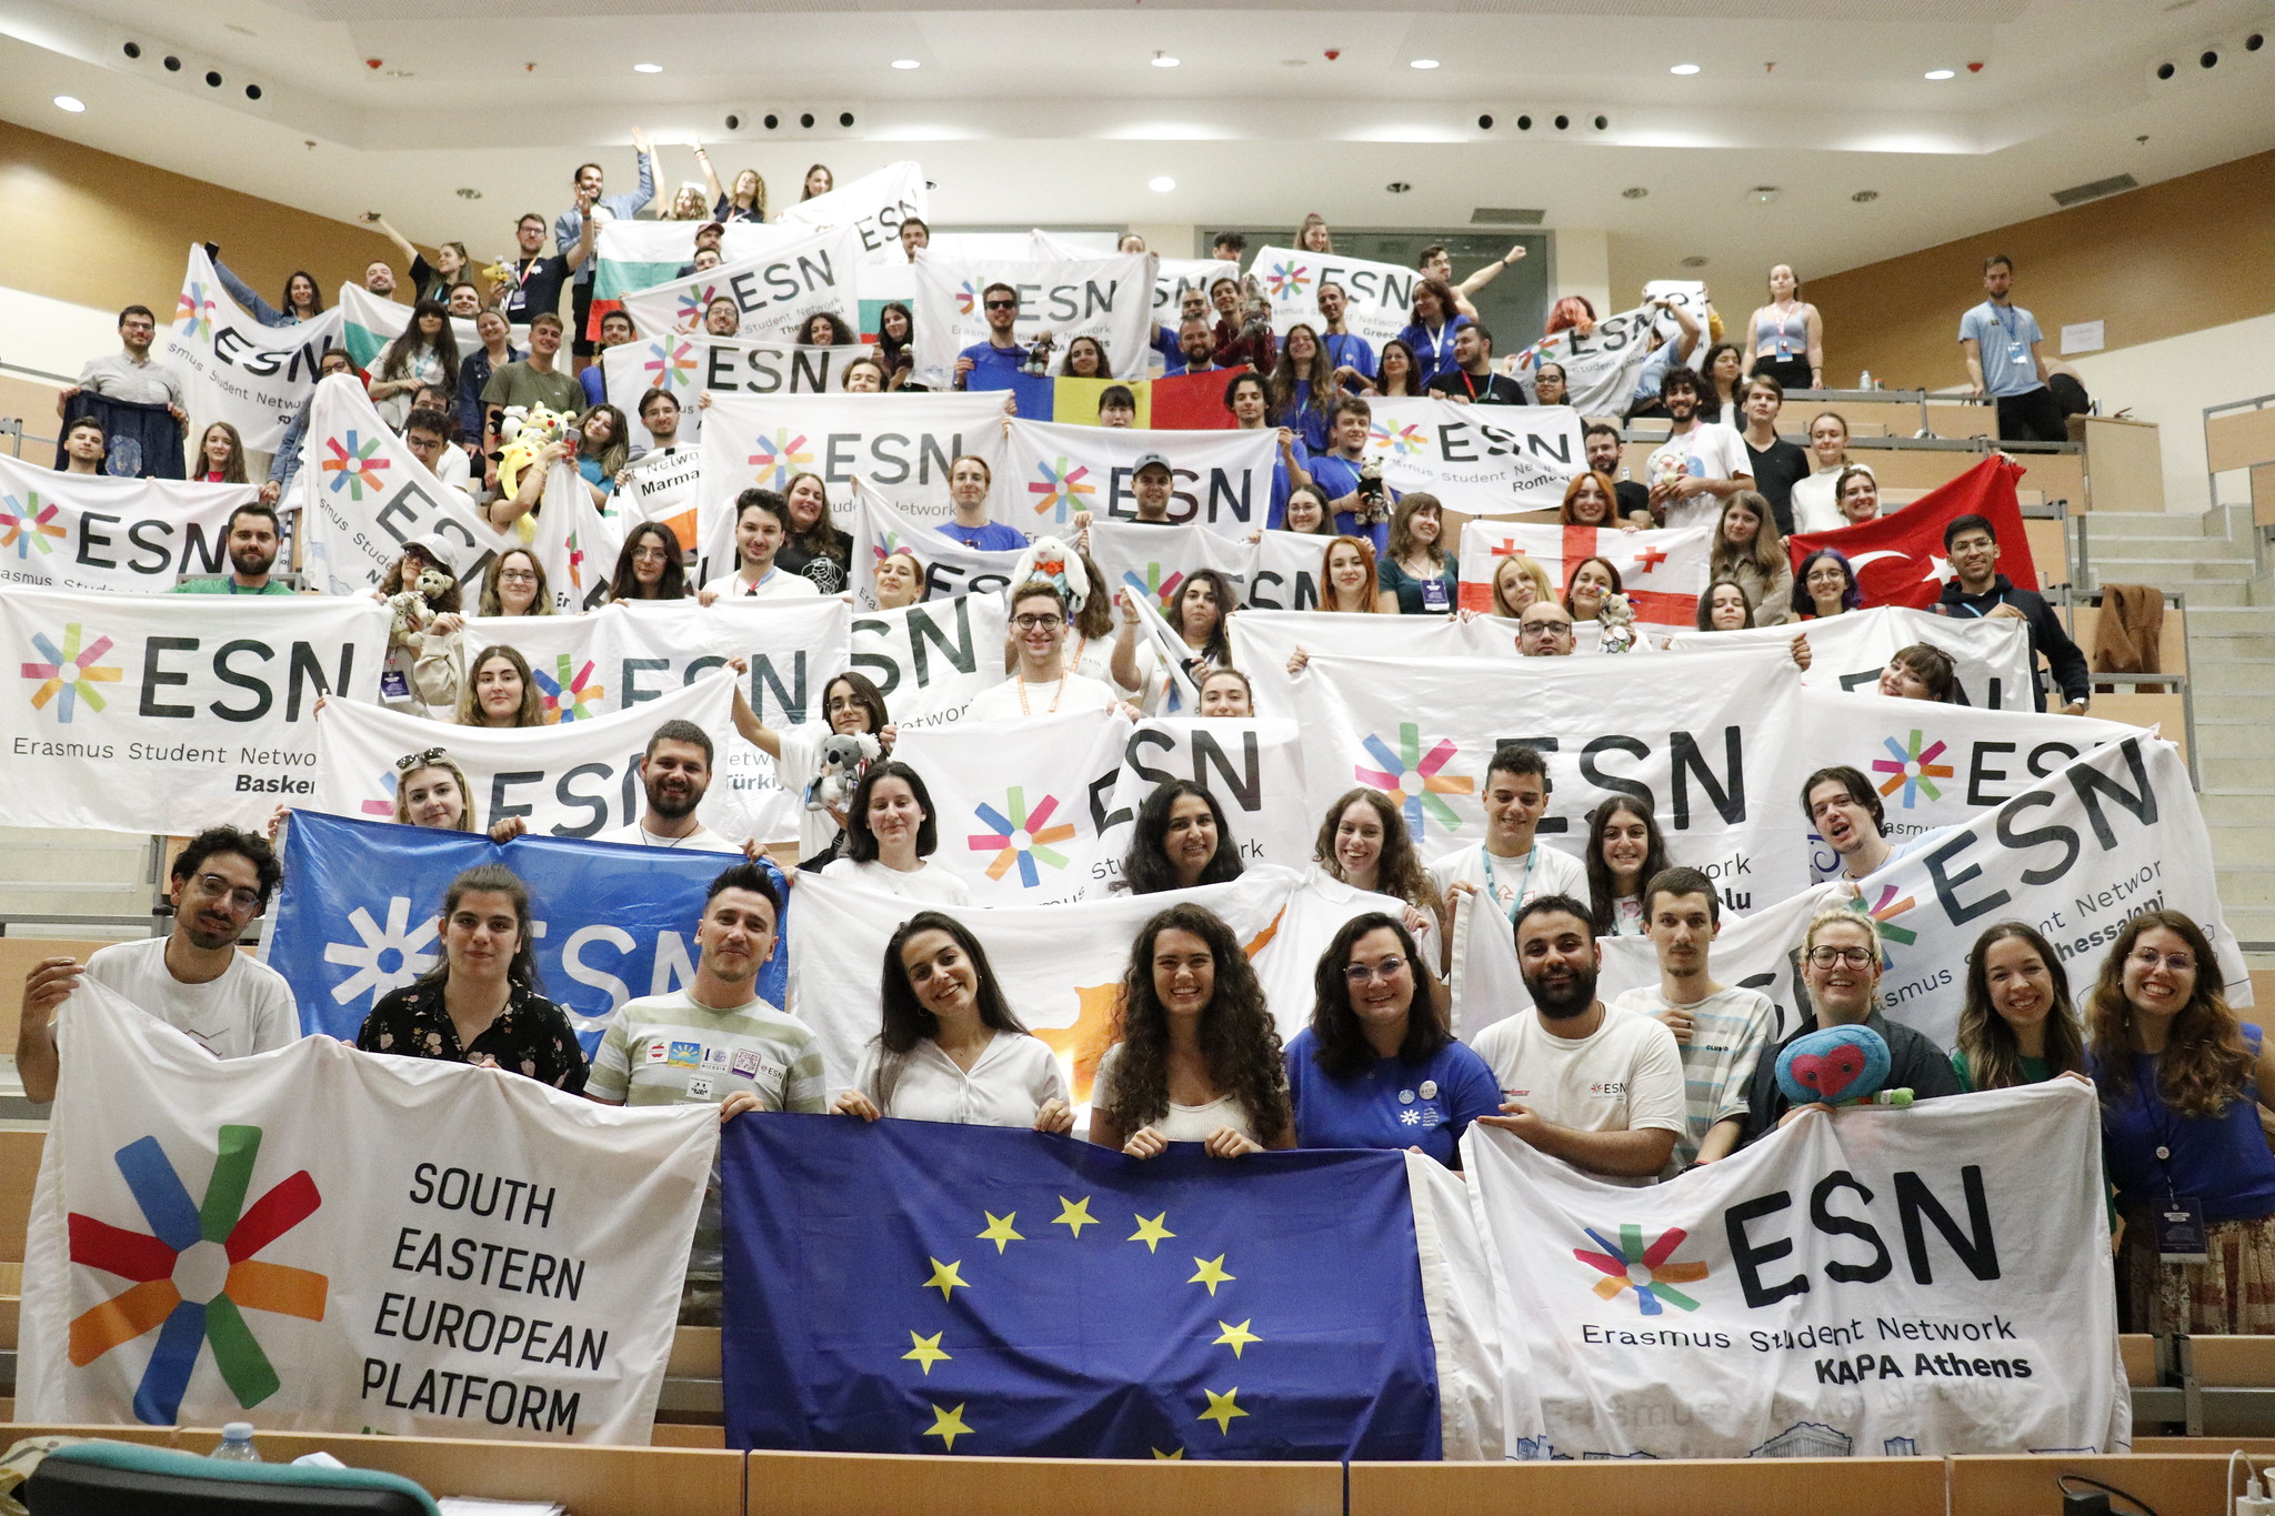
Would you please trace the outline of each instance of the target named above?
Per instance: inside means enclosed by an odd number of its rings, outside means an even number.
[[[1215,959],[1215,993],[1201,1011],[1201,1057],[1208,1080],[1247,1111],[1256,1139],[1269,1143],[1288,1130],[1288,1068],[1265,986],[1249,955],[1224,921],[1199,905],[1172,905],[1131,943],[1131,966],[1122,975],[1122,1009],[1115,1014],[1112,1098],[1099,1111],[1122,1132],[1135,1132],[1169,1114],[1169,1011],[1153,993],[1153,943],[1163,932],[1190,932],[1208,943]]]

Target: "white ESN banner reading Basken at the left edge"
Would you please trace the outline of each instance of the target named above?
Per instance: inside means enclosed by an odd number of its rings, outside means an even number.
[[[378,700],[387,607],[11,586],[0,650],[11,825],[259,830],[316,793],[316,698]]]

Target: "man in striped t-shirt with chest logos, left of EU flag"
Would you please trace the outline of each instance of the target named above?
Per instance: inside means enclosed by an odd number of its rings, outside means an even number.
[[[758,864],[712,880],[696,925],[694,984],[619,1005],[585,1093],[601,1105],[717,1105],[721,1123],[742,1111],[821,1111],[821,1043],[803,1021],[758,998],[780,909]],[[719,1325],[719,1250],[712,1159],[687,1257],[682,1325]]]

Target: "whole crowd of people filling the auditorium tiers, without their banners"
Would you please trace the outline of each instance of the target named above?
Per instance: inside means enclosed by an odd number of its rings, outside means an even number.
[[[701,184],[680,186],[669,214],[703,223],[694,266],[717,261],[717,236],[735,220],[764,220],[769,193],[755,170],[723,182],[698,150]],[[814,166],[805,195],[828,193]],[[635,191],[605,195],[603,170],[573,175],[576,205],[551,223],[523,216],[519,257],[485,270],[464,243],[430,261],[384,220],[375,225],[412,252],[407,295],[416,298],[403,336],[362,375],[373,402],[444,486],[462,489],[498,527],[539,507],[546,468],[514,491],[496,482],[496,430],[503,407],[544,402],[578,416],[576,441],[553,443],[539,464],[573,461],[601,509],[626,470],[651,452],[685,443],[680,405],[662,391],[612,395],[598,350],[630,341],[635,325],[592,309],[594,227],[642,211],[655,193],[653,152],[642,143]],[[921,257],[928,230],[901,225],[908,257]],[[1138,245],[1140,239],[1124,239]],[[1297,245],[1331,250],[1324,220],[1308,218]],[[1240,257],[1226,236],[1219,255]],[[1258,330],[1235,280],[1190,291],[1176,327],[1160,327],[1156,352],[1167,373],[1228,368],[1224,407],[1240,427],[1276,427],[1279,480],[1269,530],[1320,536],[1315,614],[1499,618],[1522,655],[1574,655],[1574,625],[1597,620],[1622,595],[1618,566],[1602,557],[1570,564],[1563,584],[1524,555],[1506,557],[1490,582],[1488,609],[1458,605],[1456,543],[1442,505],[1426,493],[1385,491],[1363,464],[1370,395],[1436,393],[1467,405],[1558,405],[1565,373],[1547,364],[1529,377],[1531,395],[1495,359],[1495,339],[1472,295],[1522,248],[1456,284],[1445,250],[1424,255],[1413,323],[1381,352],[1345,325],[1347,291],[1317,289],[1317,323]],[[216,259],[216,268],[225,268]],[[1979,393],[1997,400],[2002,434],[2043,436],[2048,368],[2038,327],[2011,305],[2011,264],[1991,259],[1986,300],[1961,325],[1966,364]],[[321,284],[293,273],[282,302],[268,305],[232,282],[237,298],[278,325],[321,311]],[[396,295],[389,261],[375,259],[366,289]],[[487,284],[487,286],[485,286]],[[573,320],[562,318],[562,295]],[[958,359],[956,384],[987,389],[1017,373],[1010,341],[1019,295],[994,284],[981,295],[992,336]],[[1210,320],[1210,309],[1215,320]],[[1840,530],[1881,511],[1872,470],[1847,455],[1847,425],[1834,411],[1809,420],[1806,448],[1779,434],[1788,389],[1822,386],[1825,325],[1800,300],[1793,268],[1768,277],[1768,300],[1736,341],[1720,318],[1699,320],[1668,305],[1668,334],[1622,416],[1590,418],[1586,461],[1558,509],[1565,525],[1640,530],[1670,520],[1713,520],[1711,582],[1697,598],[1697,627],[1795,630],[1793,659],[1809,666],[1806,627],[1863,607],[1854,566],[1822,548],[1797,568],[1786,536]],[[460,352],[450,318],[478,323],[480,350]],[[733,318],[733,311],[726,311]],[[710,320],[710,314],[705,314]],[[1586,334],[1597,314],[1586,300],[1558,300],[1549,332]],[[851,393],[912,384],[908,307],[887,307],[874,359],[846,370]],[[510,343],[528,330],[528,350]],[[589,327],[589,330],[587,330]],[[150,359],[157,323],[146,307],[121,316],[123,352],[96,359],[89,391],[168,405],[180,411],[180,375]],[[839,320],[817,320],[805,341],[844,345]],[[562,345],[569,357],[562,357]],[[1704,352],[1693,355],[1706,343]],[[1067,370],[1115,380],[1106,348],[1078,339]],[[325,355],[348,370],[346,355]],[[73,393],[66,391],[66,409]],[[1126,425],[1128,389],[1106,389]],[[630,443],[626,409],[651,436]],[[1640,480],[1620,466],[1622,420],[1665,418],[1668,441]],[[305,418],[303,418],[305,420]],[[1115,420],[1110,418],[1108,425]],[[2059,416],[2054,427],[2059,430]],[[305,425],[303,425],[305,432]],[[61,466],[93,473],[109,439],[77,420],[64,436]],[[228,523],[230,573],[189,582],[202,593],[291,593],[278,557],[287,541],[296,450],[278,455],[257,498]],[[237,432],[205,427],[193,445],[198,477],[255,484]],[[530,484],[535,480],[537,484]],[[958,457],[946,477],[944,536],[983,550],[1026,548],[1026,534],[987,514],[985,459]],[[1138,520],[1165,520],[1172,466],[1158,455],[1133,468]],[[812,598],[842,595],[853,543],[830,520],[830,484],[799,473],[780,491],[748,489],[735,502],[735,564],[698,584],[689,555],[664,527],[626,532],[610,577],[614,600]],[[2029,627],[2041,709],[2084,711],[2086,664],[2045,600],[1997,573],[2000,543],[1982,516],[1943,530],[1954,580],[1938,607],[1947,616],[2013,616]],[[1201,718],[1256,716],[1256,689],[1233,666],[1228,623],[1238,589],[1215,570],[1192,573],[1165,607],[1172,641],[1147,634],[1138,602],[1110,595],[1106,577],[1076,539],[1076,568],[1015,582],[1003,593],[1008,643],[999,684],[978,693],[967,723],[1017,723],[1046,714],[1119,709],[1126,716],[1185,709],[1190,689]],[[453,580],[439,618],[391,648],[389,700],[439,720],[478,727],[544,725],[548,714],[521,650],[510,643],[464,648],[469,616],[553,614],[539,557],[514,548],[489,559],[478,582],[457,584],[455,552],[441,539],[414,539],[375,593],[389,595],[439,568]],[[903,543],[874,570],[876,602],[896,609],[924,600],[928,564]],[[1668,659],[1674,664],[1674,659]],[[1290,673],[1301,677],[1299,650]],[[2048,695],[2048,686],[2059,700]],[[1929,643],[1897,652],[1881,693],[1954,700],[1952,657]],[[1240,1159],[1276,1148],[1420,1150],[1461,1166],[1470,1125],[1513,1139],[1622,1184],[1677,1180],[1715,1164],[1802,1118],[1772,1077],[1777,1052],[1829,1025],[1863,1025],[1891,1048],[1891,1084],[1920,1100],[1966,1098],[2052,1077],[2091,1080],[2102,1105],[2104,1152],[2118,1214],[2132,1321],[2141,1330],[2275,1330],[2275,1157],[2259,1132],[2259,1100],[2275,1075],[2259,1030],[2225,1005],[2225,975],[2198,923],[2175,911],[2134,916],[2109,948],[2100,980],[2073,1005],[2052,946],[2029,925],[1991,925],[1966,964],[1966,1011],[1950,1055],[1877,1002],[1881,941],[1875,921],[1834,907],[1793,943],[1804,1005],[1781,1032],[1781,1011],[1754,989],[1715,977],[1713,941],[1724,902],[1699,871],[1670,861],[1647,798],[1613,796],[1588,816],[1579,857],[1538,839],[1549,805],[1542,752],[1502,745],[1481,782],[1486,832],[1424,866],[1395,798],[1374,789],[1338,796],[1320,816],[1313,864],[1345,884],[1385,898],[1390,909],[1351,918],[1317,961],[1308,1025],[1285,1039],[1265,1005],[1256,971],[1233,930],[1192,900],[1165,902],[1128,943],[1115,1036],[1090,1089],[1087,1121],[1067,1071],[1028,1032],[981,934],[965,884],[933,861],[937,816],[919,768],[892,757],[896,727],[880,689],[858,670],[837,670],[821,693],[821,718],[769,727],[735,698],[737,734],[769,755],[785,789],[817,777],[826,736],[871,736],[871,764],[837,811],[808,811],[787,875],[758,859],[755,839],[721,836],[698,821],[714,775],[717,739],[698,725],[660,725],[639,759],[642,814],[605,834],[639,848],[728,855],[694,927],[696,964],[685,989],[626,1000],[587,1057],[566,1014],[546,998],[535,957],[532,900],[507,868],[460,875],[437,905],[439,955],[416,982],[384,996],[357,1046],[394,1057],[446,1059],[530,1077],[610,1105],[710,1102],[719,1118],[744,1111],[837,1111],[858,1121],[905,1118],[1031,1127],[1042,1136],[1092,1143],[1149,1159],[1169,1143],[1201,1143]],[[1884,834],[1879,793],[1854,768],[1811,775],[1800,796],[1811,827],[1840,859],[1843,880],[1861,880],[1902,852]],[[416,827],[480,830],[466,773],[437,745],[396,764],[394,821]],[[489,827],[496,839],[521,821]],[[1918,846],[1913,839],[1909,846]],[[637,861],[626,861],[632,868]],[[214,827],[171,866],[168,936],[96,952],[86,964],[41,961],[25,982],[20,1068],[34,1100],[57,1089],[52,1018],[80,977],[100,982],[166,1018],[216,1057],[248,1057],[284,1046],[300,1021],[284,980],[237,952],[280,884],[271,839]],[[885,948],[878,973],[880,1023],[853,1084],[830,1089],[821,1048],[796,1007],[769,1005],[760,971],[774,955],[783,891],[801,873],[899,896],[910,916]],[[1203,784],[1167,782],[1138,811],[1122,889],[1174,896],[1240,877],[1240,848],[1217,796]],[[1513,939],[1531,1005],[1456,1041],[1447,968],[1465,911]],[[1499,918],[1499,921],[1495,921]],[[1472,925],[1472,930],[1476,930]],[[1602,941],[1645,936],[1658,984],[1606,1002],[1599,993]],[[1790,1018],[1788,1018],[1790,1021]],[[660,1046],[698,1043],[701,1059],[657,1057]],[[714,1077],[717,1075],[717,1077]],[[1228,1166],[1226,1175],[1235,1175]],[[2209,1261],[2177,1264],[2157,1252],[2148,1211],[2184,1193],[2200,1202]],[[685,1296],[687,1321],[717,1318],[717,1191],[696,1232]]]

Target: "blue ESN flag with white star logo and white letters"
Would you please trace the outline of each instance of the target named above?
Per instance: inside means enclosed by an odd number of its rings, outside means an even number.
[[[610,1011],[694,980],[703,891],[739,864],[730,852],[678,852],[555,836],[494,843],[389,821],[293,811],[284,889],[262,952],[300,1005],[300,1030],[355,1039],[364,1016],[441,955],[441,896],[475,864],[505,864],[530,886],[541,993],[569,1014],[592,1057]],[[780,871],[762,861],[780,893]],[[789,918],[758,993],[789,993]]]

